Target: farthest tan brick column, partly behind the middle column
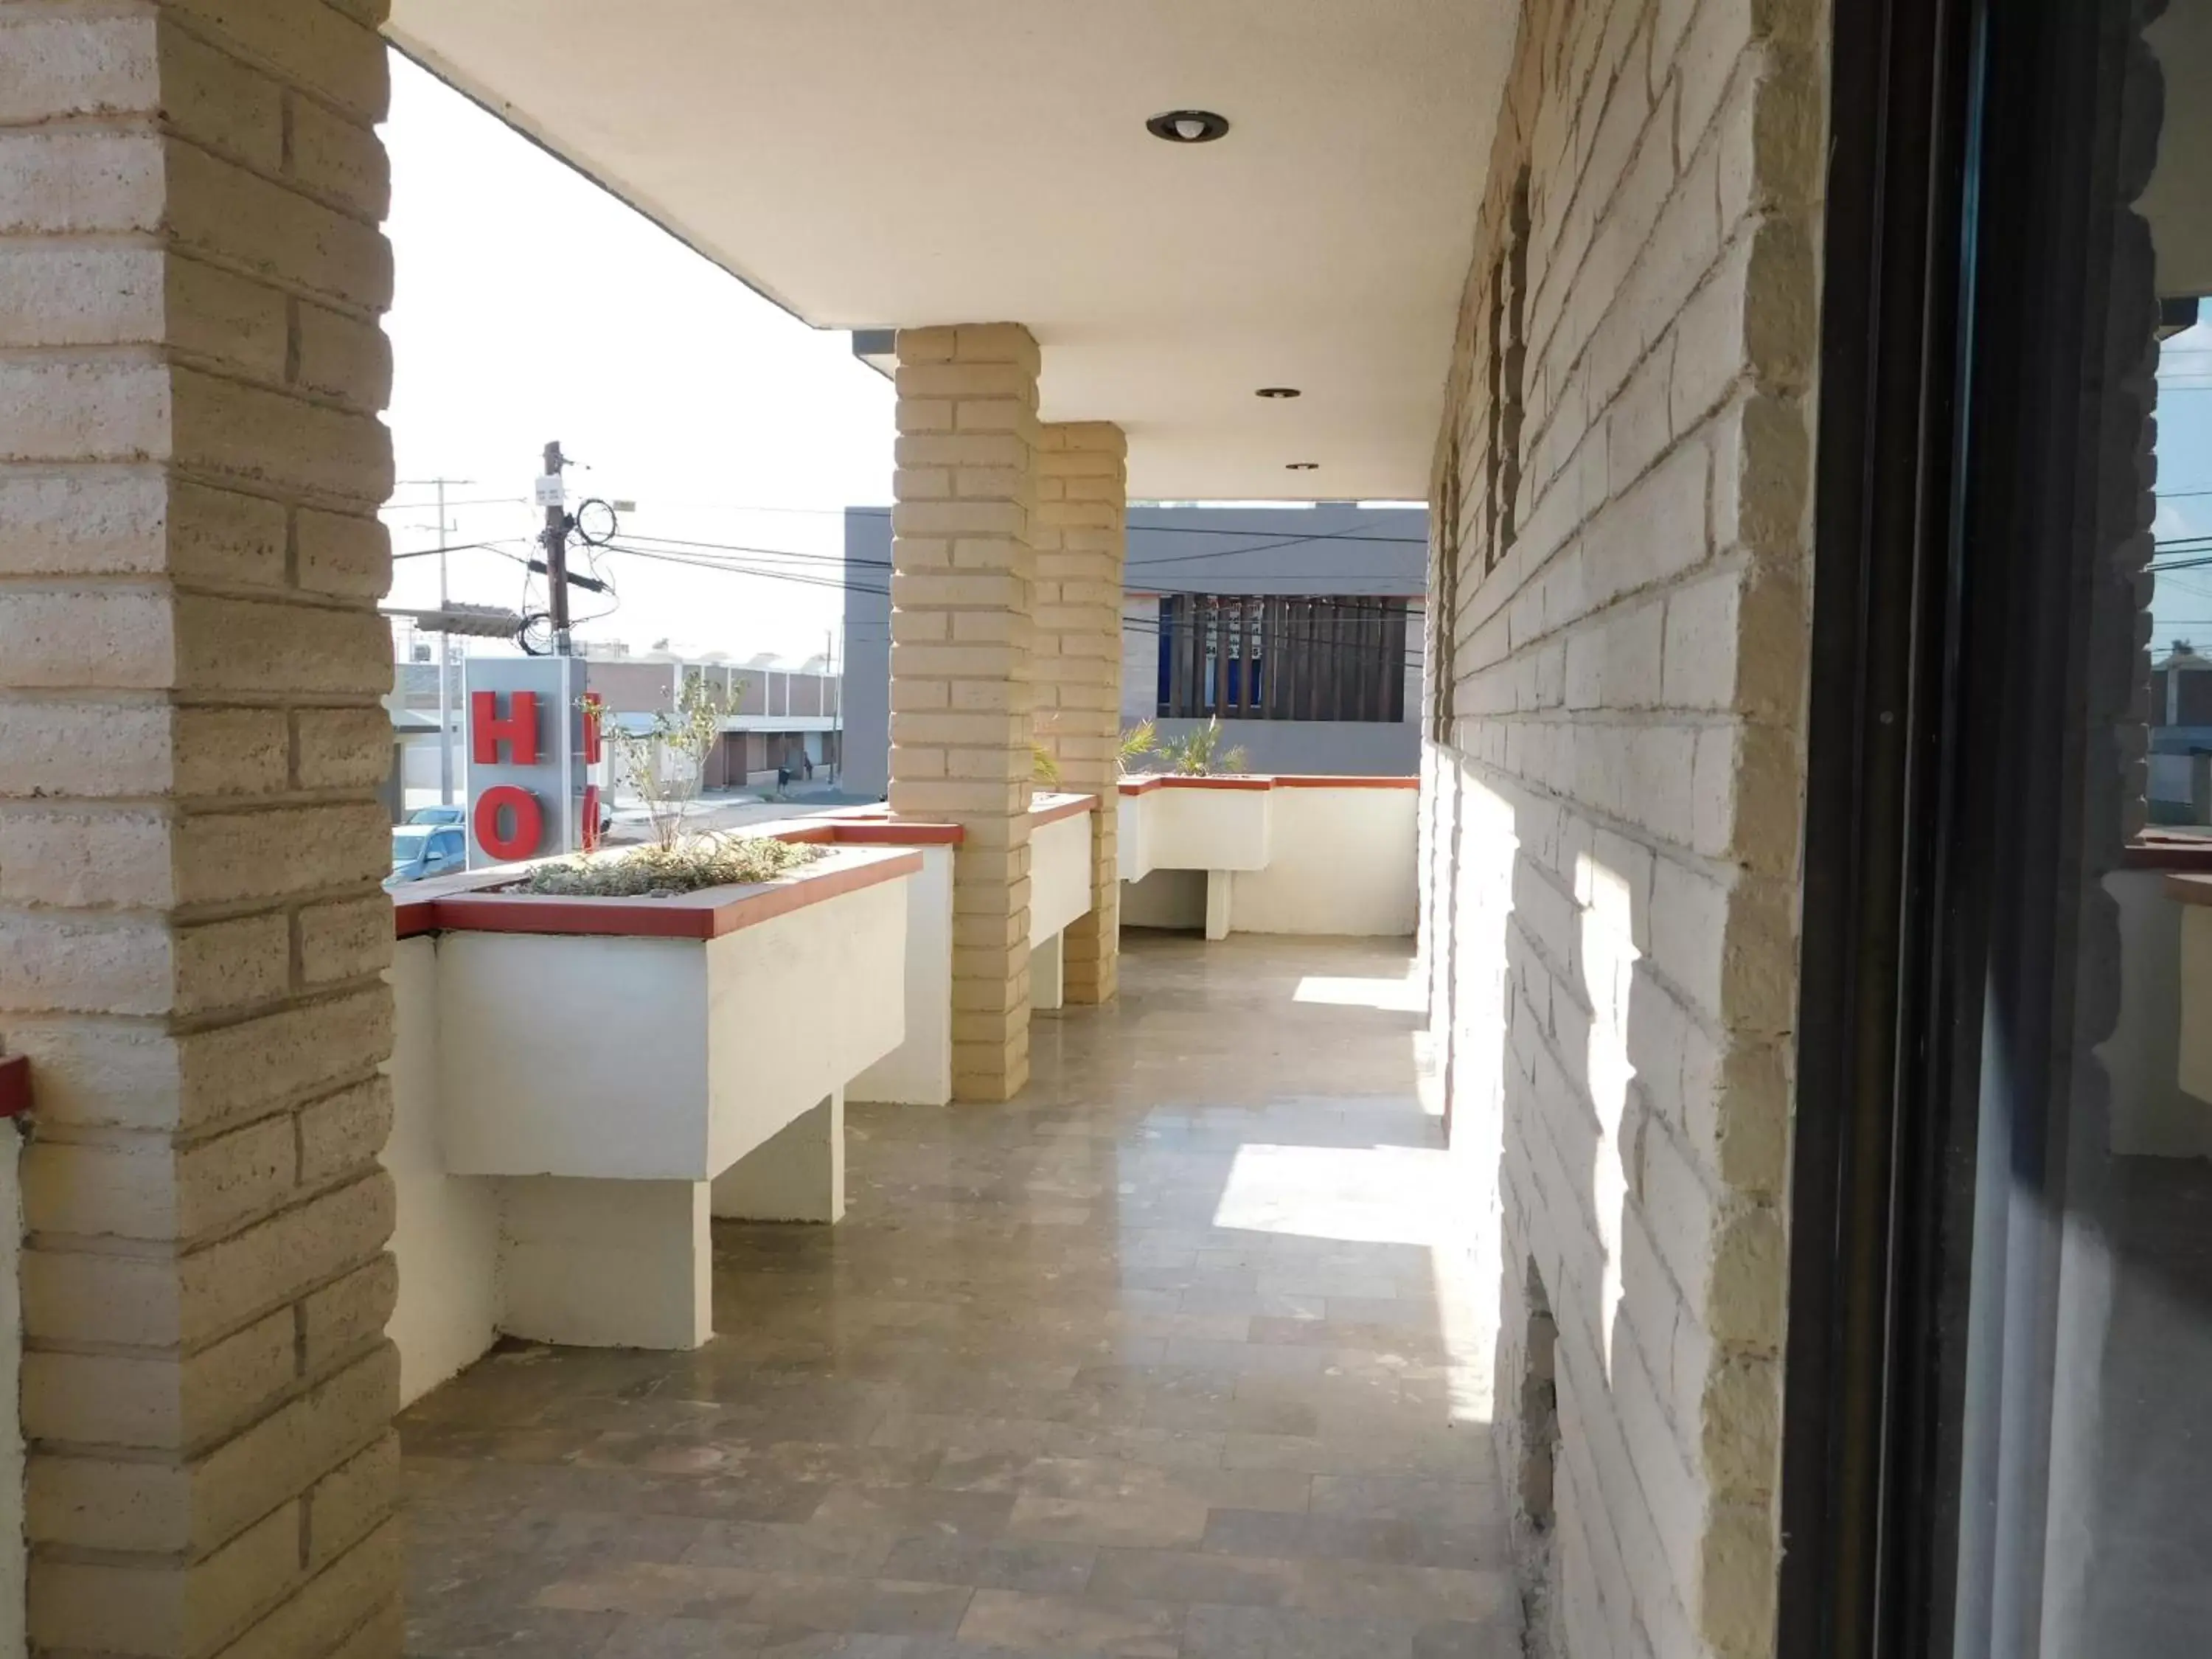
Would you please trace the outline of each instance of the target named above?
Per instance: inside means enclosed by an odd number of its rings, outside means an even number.
[[[1037,451],[1037,741],[1060,787],[1095,794],[1091,914],[1066,931],[1068,1002],[1113,1002],[1121,962],[1115,750],[1121,741],[1121,560],[1128,438],[1104,420],[1042,427]]]

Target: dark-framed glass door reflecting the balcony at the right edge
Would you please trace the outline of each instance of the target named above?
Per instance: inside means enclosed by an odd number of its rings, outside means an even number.
[[[2197,1659],[2212,0],[1836,62],[1781,1650]]]

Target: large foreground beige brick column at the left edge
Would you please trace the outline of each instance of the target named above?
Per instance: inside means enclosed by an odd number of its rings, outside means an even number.
[[[376,0],[0,0],[33,1652],[400,1646]]]

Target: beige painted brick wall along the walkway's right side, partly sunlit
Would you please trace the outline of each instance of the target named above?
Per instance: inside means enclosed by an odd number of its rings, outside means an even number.
[[[1772,1652],[1823,40],[1531,0],[1438,449],[1431,1006],[1575,1659]]]

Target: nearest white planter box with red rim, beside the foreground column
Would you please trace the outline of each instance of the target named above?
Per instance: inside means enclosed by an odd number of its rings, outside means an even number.
[[[392,980],[403,1391],[495,1332],[712,1334],[710,1214],[834,1221],[843,1091],[905,1037],[918,852],[684,898],[409,896]]]

